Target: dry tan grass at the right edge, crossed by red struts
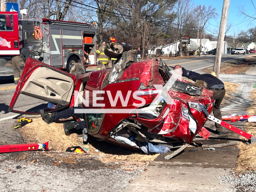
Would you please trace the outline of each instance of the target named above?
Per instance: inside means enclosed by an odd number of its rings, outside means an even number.
[[[251,98],[254,98],[254,103],[247,109],[248,114],[256,114],[256,89],[251,92]],[[256,136],[256,123],[246,123],[244,125],[245,132]],[[239,142],[238,147],[240,153],[237,160],[236,172],[238,174],[247,170],[256,170],[256,144],[247,145],[244,142]]]

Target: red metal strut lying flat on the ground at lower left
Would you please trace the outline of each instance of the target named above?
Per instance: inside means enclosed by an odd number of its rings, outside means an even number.
[[[0,153],[16,152],[16,151],[32,151],[32,150],[46,150],[48,151],[48,142],[44,144],[30,143],[17,145],[0,145]]]

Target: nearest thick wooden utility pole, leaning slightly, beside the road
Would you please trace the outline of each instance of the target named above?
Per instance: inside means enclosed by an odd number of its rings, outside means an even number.
[[[220,19],[220,30],[219,30],[216,55],[215,55],[214,66],[213,66],[213,71],[215,72],[217,77],[219,77],[219,72],[220,72],[221,54],[222,54],[224,35],[225,35],[226,24],[228,19],[229,4],[230,4],[230,0],[224,0],[222,15]]]

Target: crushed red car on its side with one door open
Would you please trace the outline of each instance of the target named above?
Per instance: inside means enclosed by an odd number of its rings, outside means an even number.
[[[49,112],[80,106],[88,134],[127,148],[178,148],[198,133],[210,136],[203,126],[213,109],[212,92],[177,80],[162,60],[136,62],[127,52],[112,69],[77,76],[29,58],[9,111],[38,114],[14,109],[20,94],[55,104]]]

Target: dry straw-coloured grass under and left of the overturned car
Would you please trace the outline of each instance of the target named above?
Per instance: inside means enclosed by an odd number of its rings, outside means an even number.
[[[97,154],[101,157],[115,160],[131,161],[154,160],[159,155],[144,154],[141,151],[130,150],[107,142],[97,141],[93,138],[90,138],[87,144],[83,144],[82,137],[78,137],[78,134],[65,135],[61,121],[46,124],[40,117],[33,118],[33,122],[19,128],[18,131],[27,143],[49,141],[49,148],[54,151],[64,152],[70,146],[81,146],[88,154]],[[96,152],[96,149],[99,152]]]

